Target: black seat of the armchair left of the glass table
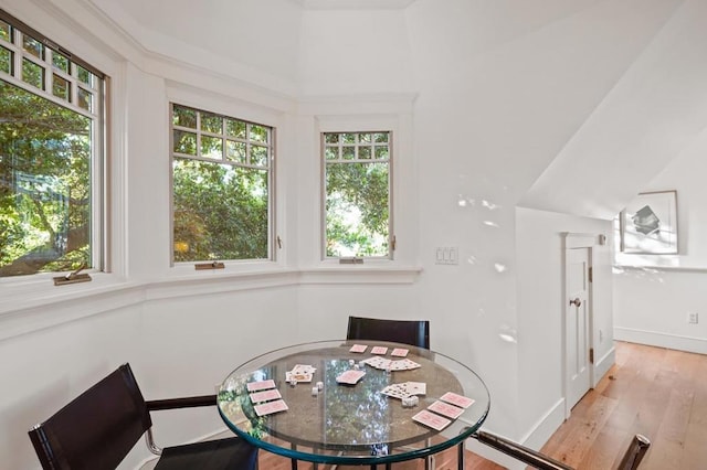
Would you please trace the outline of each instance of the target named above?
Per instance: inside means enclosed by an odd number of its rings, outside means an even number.
[[[155,470],[251,470],[256,462],[257,448],[245,440],[229,438],[167,447]]]

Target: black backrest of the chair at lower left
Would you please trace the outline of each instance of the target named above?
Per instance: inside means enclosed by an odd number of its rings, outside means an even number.
[[[29,435],[43,469],[114,470],[151,426],[133,371],[123,364]]]

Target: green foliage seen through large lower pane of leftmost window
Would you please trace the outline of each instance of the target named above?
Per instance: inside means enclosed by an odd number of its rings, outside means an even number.
[[[91,265],[91,131],[0,81],[0,277]]]

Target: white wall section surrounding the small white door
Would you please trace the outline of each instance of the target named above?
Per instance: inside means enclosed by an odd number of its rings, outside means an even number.
[[[594,348],[594,383],[613,364],[611,244],[612,224],[530,209],[516,211],[518,263],[518,396],[521,429],[529,444],[542,445],[564,419],[562,334],[564,305],[564,248],[562,233],[591,235],[593,303],[590,343]],[[601,332],[601,333],[600,333]],[[600,339],[601,338],[601,339]],[[538,414],[538,410],[544,413]]]

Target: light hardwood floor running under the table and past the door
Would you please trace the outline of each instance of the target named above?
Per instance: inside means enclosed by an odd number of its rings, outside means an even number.
[[[541,451],[577,470],[613,470],[633,436],[642,434],[652,445],[640,470],[707,469],[707,355],[615,345],[614,366]],[[455,452],[437,455],[436,469],[456,469]],[[289,460],[268,452],[261,452],[260,459],[261,470],[291,469]],[[422,461],[393,464],[394,470],[423,468]],[[299,469],[312,466],[300,462]],[[498,469],[503,467],[466,452],[465,470]]]

